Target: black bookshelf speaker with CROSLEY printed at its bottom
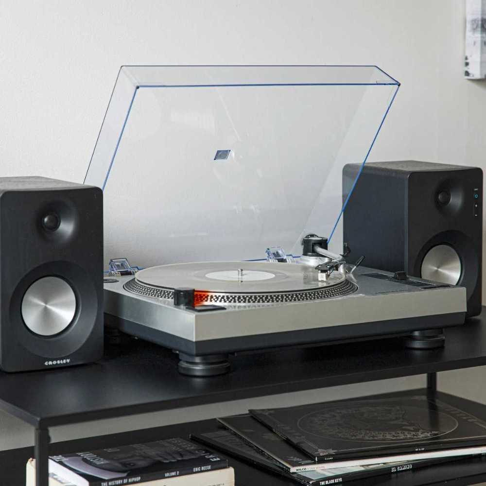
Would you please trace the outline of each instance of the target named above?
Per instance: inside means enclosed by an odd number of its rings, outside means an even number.
[[[0,367],[103,354],[103,193],[44,177],[0,178]]]

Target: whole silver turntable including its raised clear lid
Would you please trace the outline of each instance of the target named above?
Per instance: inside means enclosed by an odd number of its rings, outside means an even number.
[[[373,66],[122,67],[85,180],[104,190],[105,322],[190,375],[243,350],[441,346],[465,289],[353,265],[342,241],[342,168],[398,88]]]

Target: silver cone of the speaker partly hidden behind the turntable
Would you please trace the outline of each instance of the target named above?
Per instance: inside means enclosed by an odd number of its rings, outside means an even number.
[[[461,259],[447,244],[431,248],[422,261],[421,277],[427,280],[456,285],[461,278]]]

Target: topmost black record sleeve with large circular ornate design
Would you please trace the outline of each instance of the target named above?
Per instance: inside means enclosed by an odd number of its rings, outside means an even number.
[[[415,395],[249,412],[312,460],[335,462],[484,446],[486,422],[478,416],[486,417],[486,406],[479,407],[473,416]]]

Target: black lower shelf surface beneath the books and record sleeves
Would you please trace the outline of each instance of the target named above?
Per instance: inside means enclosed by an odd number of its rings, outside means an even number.
[[[419,392],[423,392],[420,390]],[[417,390],[382,395],[383,397],[416,394]],[[444,399],[454,405],[456,397],[445,393],[436,393],[438,399]],[[464,400],[464,399],[461,399]],[[464,402],[463,402],[464,403]],[[471,402],[473,405],[473,402]],[[120,420],[129,420],[121,418]],[[214,430],[215,420],[202,420],[185,424],[156,427],[152,429],[125,432],[121,434],[102,435],[87,439],[57,442],[50,448],[51,454],[76,452],[83,450],[101,449],[120,445],[147,442],[151,440],[170,437],[188,437],[189,434],[200,434]],[[2,486],[25,485],[25,464],[32,457],[34,450],[31,447],[0,452],[0,484]],[[224,454],[220,454],[223,455]],[[255,469],[239,460],[227,456],[230,465],[235,468],[237,486],[295,486],[298,483],[281,478],[269,472]],[[369,479],[361,479],[346,483],[350,486],[467,486],[486,482],[486,456],[474,459],[465,459],[444,463],[438,466],[411,471],[400,472],[396,475],[375,476]]]

